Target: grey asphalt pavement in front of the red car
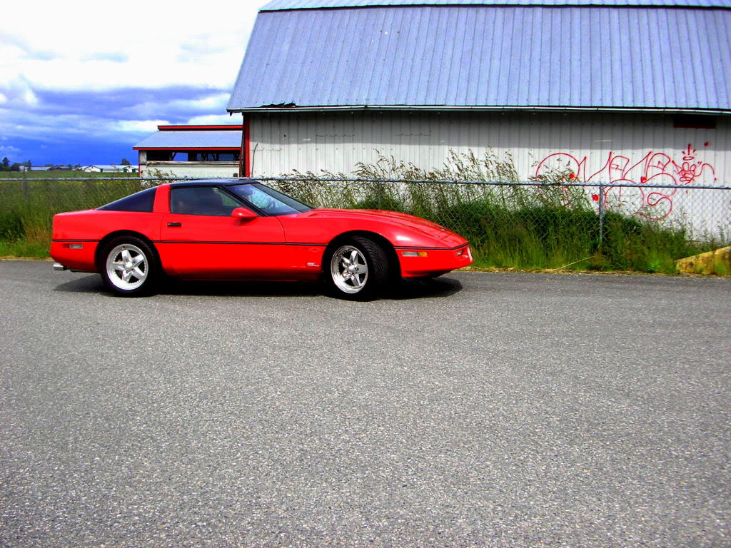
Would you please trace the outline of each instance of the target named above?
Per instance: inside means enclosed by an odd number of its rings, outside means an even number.
[[[730,297],[461,272],[124,299],[0,262],[0,546],[731,546]]]

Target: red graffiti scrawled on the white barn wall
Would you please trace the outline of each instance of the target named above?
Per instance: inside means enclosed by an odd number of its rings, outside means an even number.
[[[703,144],[708,146],[708,142]],[[697,152],[689,144],[677,159],[662,152],[649,151],[640,161],[634,162],[610,151],[598,170],[594,169],[596,166],[590,167],[587,156],[579,160],[572,154],[558,152],[539,161],[535,178],[555,180],[558,176],[559,180],[571,183],[602,183],[607,185],[603,189],[605,208],[660,220],[673,213],[673,196],[678,189],[713,185],[718,181],[716,170],[708,162],[697,159]],[[642,186],[616,186],[619,183]],[[671,188],[658,189],[658,185]],[[591,199],[599,202],[599,194],[592,194]]]

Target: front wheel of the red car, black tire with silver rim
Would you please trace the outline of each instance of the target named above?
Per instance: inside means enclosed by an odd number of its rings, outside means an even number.
[[[347,300],[379,297],[390,278],[385,250],[362,236],[331,246],[323,267],[330,293]]]

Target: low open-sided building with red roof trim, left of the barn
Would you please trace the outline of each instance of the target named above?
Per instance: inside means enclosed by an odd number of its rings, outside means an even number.
[[[238,177],[243,126],[157,126],[137,143],[140,175]]]

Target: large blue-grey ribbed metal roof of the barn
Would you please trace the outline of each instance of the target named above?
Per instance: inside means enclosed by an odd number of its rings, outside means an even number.
[[[314,0],[274,0],[265,9],[309,1]],[[724,8],[413,5],[262,11],[228,110],[725,112],[731,110],[730,35],[731,9]]]

